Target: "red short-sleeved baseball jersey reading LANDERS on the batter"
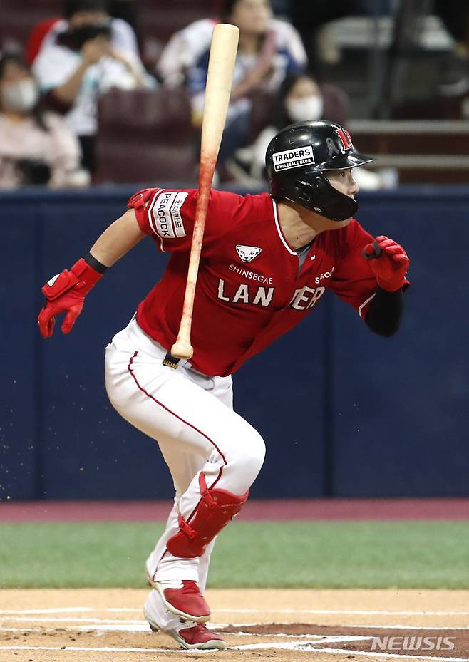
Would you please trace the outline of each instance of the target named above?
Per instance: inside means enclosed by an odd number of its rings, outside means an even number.
[[[181,319],[196,203],[197,190],[165,189],[147,189],[129,201],[140,229],[171,253],[162,279],[137,310],[143,331],[167,349]],[[372,241],[352,220],[318,234],[299,269],[269,194],[212,190],[192,317],[192,366],[212,376],[233,373],[304,319],[326,289],[364,319],[376,276],[361,250]]]

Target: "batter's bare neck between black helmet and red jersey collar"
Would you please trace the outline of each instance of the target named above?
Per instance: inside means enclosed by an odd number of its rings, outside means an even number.
[[[312,242],[316,234],[324,232],[324,230],[339,229],[349,223],[349,219],[340,222],[331,221],[304,207],[295,205],[289,200],[280,200],[277,207],[280,227],[285,239],[293,249],[306,246]]]

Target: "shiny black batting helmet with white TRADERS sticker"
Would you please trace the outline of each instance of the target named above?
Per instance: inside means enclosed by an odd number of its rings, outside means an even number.
[[[265,161],[274,198],[286,198],[333,221],[354,215],[358,205],[336,190],[327,170],[346,170],[372,161],[354,150],[349,132],[319,120],[291,124],[272,138]]]

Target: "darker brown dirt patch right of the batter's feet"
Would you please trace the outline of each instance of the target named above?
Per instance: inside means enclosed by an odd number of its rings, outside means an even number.
[[[350,651],[350,653],[374,653],[376,658],[392,656],[418,656],[454,660],[468,659],[468,629],[398,629],[378,627],[341,628],[340,626],[311,625],[301,623],[262,624],[239,627],[228,626],[220,633],[256,635],[262,639],[277,638],[273,647],[279,646],[279,638],[311,638],[313,641],[297,641],[292,644],[298,651]],[[267,643],[267,642],[266,642]],[[247,646],[246,646],[247,648]],[[325,652],[325,651],[324,651]],[[385,655],[383,655],[383,653]],[[386,655],[387,653],[387,655]],[[349,656],[352,658],[353,656]]]

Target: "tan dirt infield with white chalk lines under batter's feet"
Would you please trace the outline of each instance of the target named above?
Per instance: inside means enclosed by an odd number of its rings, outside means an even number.
[[[469,591],[212,590],[225,651],[182,651],[142,616],[146,591],[0,591],[0,662],[469,661]]]

